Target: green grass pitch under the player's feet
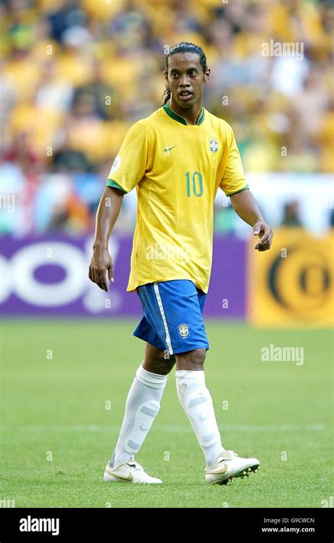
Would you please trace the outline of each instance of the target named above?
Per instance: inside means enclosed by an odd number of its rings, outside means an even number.
[[[14,499],[16,507],[80,508],[301,508],[321,507],[329,499],[330,331],[222,322],[206,323],[206,384],[225,449],[256,456],[261,470],[227,487],[204,483],[204,456],[178,401],[173,370],[160,413],[136,456],[164,484],[104,483],[142,360],[144,343],[132,336],[134,327],[135,322],[112,320],[1,324],[0,499]],[[261,348],[270,343],[304,347],[304,365],[261,361]]]

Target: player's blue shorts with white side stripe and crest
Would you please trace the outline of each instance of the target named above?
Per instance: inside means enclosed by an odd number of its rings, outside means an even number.
[[[133,332],[171,355],[209,349],[202,312],[206,294],[192,281],[175,279],[137,286],[144,317]]]

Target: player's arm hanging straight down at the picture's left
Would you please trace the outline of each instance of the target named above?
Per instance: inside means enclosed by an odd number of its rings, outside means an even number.
[[[93,255],[89,264],[89,279],[99,288],[108,292],[106,272],[113,283],[113,261],[109,255],[108,243],[114,224],[120,214],[124,193],[117,188],[106,187],[97,209]]]

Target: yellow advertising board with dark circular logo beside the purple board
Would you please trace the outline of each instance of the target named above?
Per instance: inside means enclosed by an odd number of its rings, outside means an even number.
[[[311,236],[302,228],[274,232],[271,250],[249,243],[248,317],[261,326],[333,325],[333,231]]]

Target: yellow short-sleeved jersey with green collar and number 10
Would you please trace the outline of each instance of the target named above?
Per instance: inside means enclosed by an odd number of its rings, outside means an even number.
[[[168,103],[128,130],[106,185],[137,190],[127,290],[189,279],[207,293],[217,190],[248,188],[230,125],[204,108],[189,125]]]

